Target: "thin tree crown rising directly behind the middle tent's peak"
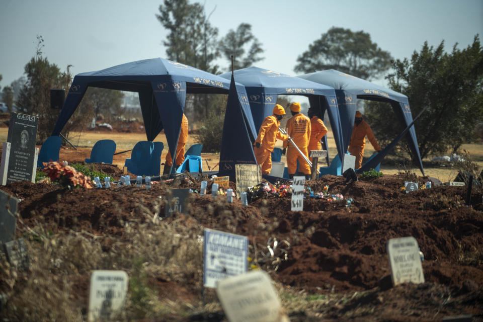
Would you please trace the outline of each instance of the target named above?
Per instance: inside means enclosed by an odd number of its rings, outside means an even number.
[[[252,66],[255,62],[263,60],[259,56],[264,50],[257,37],[252,34],[252,25],[240,24],[236,31],[230,29],[219,43],[223,56],[230,61],[228,71],[231,70],[231,55],[233,55],[233,69]]]

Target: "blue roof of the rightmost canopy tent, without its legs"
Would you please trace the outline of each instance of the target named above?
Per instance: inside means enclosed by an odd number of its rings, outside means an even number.
[[[355,77],[335,69],[315,71],[297,77],[308,81],[333,87],[336,91],[343,90],[348,94],[357,95],[361,99],[382,98],[400,103],[408,103],[408,97],[388,88],[376,85],[365,79]]]

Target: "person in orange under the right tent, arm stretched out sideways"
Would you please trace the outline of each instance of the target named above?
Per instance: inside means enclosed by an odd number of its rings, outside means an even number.
[[[354,155],[356,157],[356,164],[354,165],[354,168],[356,170],[361,168],[361,165],[362,165],[364,148],[366,146],[366,139],[365,139],[366,135],[369,141],[371,142],[372,146],[374,147],[374,150],[379,152],[381,150],[381,147],[377,143],[377,140],[374,137],[374,134],[372,134],[371,127],[369,126],[369,124],[367,124],[366,121],[362,119],[361,112],[357,111],[355,122],[354,122],[354,129],[352,130],[351,141],[349,143],[349,149],[348,149],[351,155]]]

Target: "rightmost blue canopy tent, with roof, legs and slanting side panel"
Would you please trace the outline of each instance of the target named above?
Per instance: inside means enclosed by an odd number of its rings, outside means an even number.
[[[297,77],[307,79],[319,84],[332,86],[337,94],[337,102],[339,104],[339,113],[342,125],[343,150],[346,151],[351,140],[352,129],[354,127],[354,118],[356,115],[357,99],[372,100],[386,102],[392,106],[394,113],[397,115],[401,124],[407,127],[413,121],[413,115],[409,108],[409,101],[406,95],[394,92],[382,86],[378,86],[364,79],[346,74],[335,69],[316,71]],[[423,162],[419,153],[418,140],[416,139],[416,131],[414,126],[409,128],[410,147],[414,155],[418,158],[418,166],[424,176]],[[406,133],[406,132],[405,132]],[[375,168],[382,158],[395,146],[403,136],[399,135],[390,144],[388,144],[381,152],[373,157],[369,162],[362,165],[358,172],[367,171]]]

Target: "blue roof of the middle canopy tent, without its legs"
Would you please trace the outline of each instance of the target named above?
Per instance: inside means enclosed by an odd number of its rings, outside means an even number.
[[[237,69],[234,72],[237,83],[243,84],[247,92],[260,91],[265,94],[286,94],[286,95],[329,95],[334,96],[334,88],[305,79],[282,74],[260,67],[247,67]],[[230,79],[231,72],[219,75]]]

